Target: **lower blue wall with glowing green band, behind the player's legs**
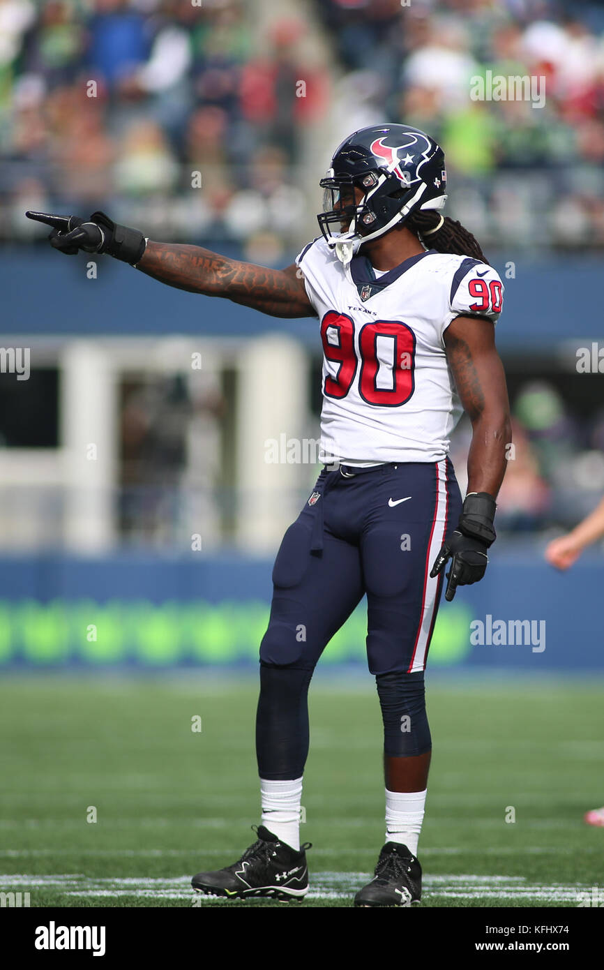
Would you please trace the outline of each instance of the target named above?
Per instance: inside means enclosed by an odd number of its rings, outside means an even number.
[[[3,558],[0,663],[28,657],[44,661],[47,639],[52,663],[101,660],[103,638],[95,647],[85,637],[87,625],[97,620],[99,630],[111,628],[108,650],[116,663],[257,663],[270,603],[271,565],[235,556]],[[603,672],[603,586],[604,562],[595,554],[562,574],[534,552],[527,558],[525,552],[499,550],[481,583],[458,590],[453,603],[443,599],[429,665],[505,667],[537,675],[547,670]],[[535,631],[542,630],[543,621],[545,640],[472,644],[470,624],[487,623],[488,615],[506,627],[511,620],[534,621]],[[48,624],[53,632],[46,629]],[[332,656],[327,662],[365,663],[365,632],[362,603],[338,643],[328,648]]]

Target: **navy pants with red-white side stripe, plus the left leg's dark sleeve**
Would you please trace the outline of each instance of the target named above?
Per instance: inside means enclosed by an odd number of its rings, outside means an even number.
[[[302,775],[312,672],[365,594],[370,672],[415,674],[423,690],[443,579],[429,570],[460,515],[448,459],[321,472],[272,570],[256,723],[262,778]]]

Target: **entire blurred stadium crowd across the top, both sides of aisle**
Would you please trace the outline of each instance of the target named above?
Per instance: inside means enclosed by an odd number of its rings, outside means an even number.
[[[312,229],[302,155],[389,119],[445,146],[452,214],[485,245],[604,244],[601,3],[309,0],[312,30],[275,12],[262,38],[255,6],[0,0],[2,236],[36,238],[24,200],[102,204],[278,261]],[[545,78],[545,106],[471,100],[487,71]]]

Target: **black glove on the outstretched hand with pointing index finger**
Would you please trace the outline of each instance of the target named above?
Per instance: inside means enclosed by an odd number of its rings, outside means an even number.
[[[93,212],[86,222],[79,215],[50,215],[48,212],[25,212],[28,219],[52,226],[50,245],[68,256],[84,252],[107,253],[124,263],[136,266],[143,256],[146,241],[138,229],[128,229],[112,222],[105,212]]]

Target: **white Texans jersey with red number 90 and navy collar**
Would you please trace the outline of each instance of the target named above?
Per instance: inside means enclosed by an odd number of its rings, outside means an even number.
[[[443,459],[462,413],[443,335],[460,315],[497,320],[499,275],[434,249],[381,275],[365,256],[345,271],[322,238],[296,263],[321,321],[320,461]]]

